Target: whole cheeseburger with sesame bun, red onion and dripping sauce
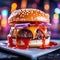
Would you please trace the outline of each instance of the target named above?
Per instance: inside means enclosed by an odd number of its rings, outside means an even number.
[[[19,9],[8,18],[8,45],[16,48],[44,47],[50,41],[49,15],[38,9]]]

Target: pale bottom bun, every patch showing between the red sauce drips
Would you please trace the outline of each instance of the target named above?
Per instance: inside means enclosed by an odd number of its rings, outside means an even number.
[[[12,41],[13,41],[13,44],[16,45],[16,39],[12,39]],[[50,42],[50,37],[45,40],[45,45],[48,45],[49,42]],[[22,41],[20,44],[23,45],[24,42]],[[40,47],[42,44],[43,44],[42,40],[30,40],[29,47]]]

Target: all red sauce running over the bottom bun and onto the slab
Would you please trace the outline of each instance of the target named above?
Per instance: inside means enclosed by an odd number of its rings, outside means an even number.
[[[29,48],[29,41],[30,39],[29,38],[23,38],[22,39],[24,45],[21,45],[21,40],[19,38],[16,39],[16,45],[13,44],[13,40],[12,40],[12,37],[11,36],[8,36],[8,43],[4,43],[4,44],[8,44],[8,47],[15,47],[15,48],[18,48],[18,49],[27,49]],[[57,46],[57,42],[50,42],[49,45],[45,45],[45,38],[43,38],[42,40],[43,44],[42,46],[40,46],[40,48],[42,49],[46,49],[46,48],[51,48],[52,46]]]

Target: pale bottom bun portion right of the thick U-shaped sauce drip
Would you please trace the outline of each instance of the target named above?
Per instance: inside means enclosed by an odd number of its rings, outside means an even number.
[[[45,40],[45,45],[48,45],[50,42],[50,37]],[[42,40],[31,40],[29,43],[29,47],[40,47],[42,45]]]

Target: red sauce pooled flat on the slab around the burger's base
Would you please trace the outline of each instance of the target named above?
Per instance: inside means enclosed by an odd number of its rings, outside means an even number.
[[[7,45],[8,43],[6,43],[6,42],[3,42],[3,44],[5,44],[5,45]],[[58,45],[58,43],[56,43],[56,42],[50,42],[50,44],[49,45],[47,45],[47,46],[41,46],[40,48],[41,49],[49,49],[49,48],[51,48],[52,46],[57,46]],[[14,49],[16,49],[16,48],[18,48],[18,49],[27,49],[27,48],[29,48],[29,45],[27,44],[27,45],[25,45],[25,46],[8,46],[8,47],[14,47]]]

